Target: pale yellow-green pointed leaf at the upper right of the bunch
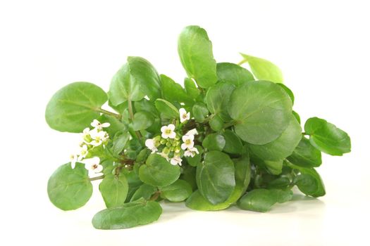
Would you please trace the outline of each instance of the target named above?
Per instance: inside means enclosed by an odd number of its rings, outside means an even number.
[[[240,53],[245,59],[243,63],[248,63],[254,77],[260,80],[269,80],[275,83],[283,83],[283,73],[280,68],[269,60],[257,58],[255,56],[248,56]]]

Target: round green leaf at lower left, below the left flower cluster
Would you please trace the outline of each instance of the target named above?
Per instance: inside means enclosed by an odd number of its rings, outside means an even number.
[[[92,184],[85,165],[77,162],[58,167],[47,183],[50,201],[59,209],[73,210],[86,204],[92,195]]]

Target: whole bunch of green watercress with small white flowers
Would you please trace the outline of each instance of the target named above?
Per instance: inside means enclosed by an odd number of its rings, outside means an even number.
[[[100,179],[106,209],[92,219],[99,229],[156,221],[161,200],[186,201],[197,210],[237,205],[266,212],[289,201],[293,186],[315,198],[325,195],[315,168],[321,152],[350,152],[345,131],[312,117],[302,133],[279,68],[245,54],[238,64],[216,63],[201,27],[185,27],[178,54],[185,88],[144,58],[128,57],[108,93],[75,82],[54,94],[49,126],[82,132],[78,152],[49,179],[56,207],[82,207],[92,181]],[[101,108],[105,103],[110,110]]]

